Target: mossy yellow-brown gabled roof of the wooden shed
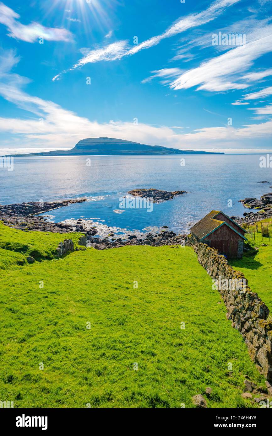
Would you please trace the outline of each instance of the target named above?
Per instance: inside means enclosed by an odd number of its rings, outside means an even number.
[[[233,230],[246,241],[247,239],[244,237],[244,235],[241,235],[241,233],[235,230],[235,228],[229,225],[226,221],[216,219],[217,215],[220,213],[222,213],[225,217],[229,218],[226,214],[224,214],[224,212],[213,210],[190,228],[191,233],[193,233],[193,235],[196,235],[196,237],[199,238],[201,241],[202,239],[205,239],[208,235],[213,233],[215,230],[217,230],[217,228],[220,228],[222,225],[227,225],[229,228],[231,228],[231,230]],[[234,222],[231,218],[229,219],[231,220],[231,222]],[[241,228],[244,232],[244,229],[242,227],[240,227],[239,225],[238,227]]]

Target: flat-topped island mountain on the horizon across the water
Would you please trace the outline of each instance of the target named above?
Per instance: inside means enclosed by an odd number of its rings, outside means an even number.
[[[116,138],[87,138],[79,141],[71,150],[43,153],[16,154],[16,156],[82,156],[120,154],[224,154],[208,151],[179,150],[159,145],[146,145]],[[15,156],[15,155],[14,155]]]

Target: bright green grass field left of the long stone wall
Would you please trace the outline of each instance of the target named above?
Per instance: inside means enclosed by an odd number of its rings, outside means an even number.
[[[208,407],[258,407],[241,399],[243,381],[265,379],[193,249],[90,248],[17,265],[18,244],[41,259],[67,237],[1,226],[1,401],[194,407],[210,386]]]

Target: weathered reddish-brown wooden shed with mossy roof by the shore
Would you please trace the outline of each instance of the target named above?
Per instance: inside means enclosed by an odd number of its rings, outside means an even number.
[[[229,259],[242,258],[245,229],[221,211],[211,211],[190,228],[200,242],[217,249]]]

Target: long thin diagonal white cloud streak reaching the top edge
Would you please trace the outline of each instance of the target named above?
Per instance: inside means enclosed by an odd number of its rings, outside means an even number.
[[[72,71],[75,68],[86,65],[90,62],[115,61],[117,59],[123,58],[124,56],[130,56],[138,53],[141,50],[151,48],[154,45],[159,44],[165,38],[172,37],[192,27],[201,26],[214,20],[220,14],[222,14],[224,10],[234,5],[235,3],[238,3],[239,1],[240,0],[217,0],[213,2],[206,10],[197,14],[190,14],[185,18],[179,18],[179,20],[173,23],[162,34],[151,37],[146,41],[141,42],[140,44],[136,44],[134,47],[129,46],[128,41],[117,41],[114,44],[110,44],[106,47],[101,47],[97,49],[84,49],[85,54],[83,58],[79,59],[79,61],[76,62],[73,67],[68,68],[62,73],[59,73],[58,75],[53,77],[52,80],[55,81],[59,79],[61,74]]]

